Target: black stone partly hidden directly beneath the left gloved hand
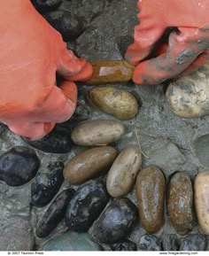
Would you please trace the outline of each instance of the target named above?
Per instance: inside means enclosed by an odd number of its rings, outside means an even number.
[[[71,151],[71,132],[67,128],[56,126],[49,135],[44,136],[41,140],[29,141],[23,138],[27,144],[40,151],[64,154]]]

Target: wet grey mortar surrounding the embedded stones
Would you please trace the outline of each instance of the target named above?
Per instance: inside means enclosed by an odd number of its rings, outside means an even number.
[[[74,50],[78,56],[87,58],[89,61],[123,59],[124,50],[130,43],[134,26],[137,24],[136,0],[64,0],[59,6],[56,6],[56,11],[73,13],[77,19],[81,20],[82,26],[84,26],[83,32],[77,39],[67,42],[68,48]],[[77,85],[79,90],[77,119],[74,118],[74,120],[59,124],[59,126],[71,130],[76,121],[86,118],[89,120],[116,120],[111,115],[99,112],[96,108],[88,105],[85,95],[89,89],[93,88],[92,86],[79,82]],[[193,181],[197,172],[208,169],[209,153],[208,143],[206,143],[209,137],[208,116],[197,119],[182,119],[174,115],[166,104],[166,83],[145,87],[137,86],[132,81],[129,81],[125,84],[115,83],[107,86],[132,92],[142,104],[134,119],[122,121],[126,132],[120,141],[112,144],[116,150],[122,151],[128,144],[137,145],[136,130],[141,147],[146,155],[146,157],[143,156],[143,167],[149,165],[158,166],[164,173],[166,182],[168,182],[169,176],[177,171],[185,171]],[[9,151],[13,146],[19,145],[30,147],[26,141],[12,134],[7,128],[1,128],[1,155],[5,151]],[[50,162],[62,161],[66,165],[69,159],[72,159],[74,155],[83,149],[84,147],[74,144],[72,144],[70,152],[62,154],[47,153],[35,149],[41,161],[41,167],[38,172],[46,172]],[[105,177],[98,179],[105,179]],[[38,250],[51,237],[56,237],[67,229],[65,221],[61,221],[58,227],[50,233],[50,236],[45,238],[35,237],[37,221],[47,206],[38,208],[30,204],[32,182],[34,180],[20,187],[10,187],[4,182],[0,182],[0,250],[27,250],[29,248]],[[69,184],[64,182],[59,192],[69,187]],[[73,187],[75,189],[78,188],[78,186]],[[135,188],[131,190],[127,198],[135,206],[137,205]],[[167,221],[166,210],[164,220],[163,228],[155,236],[161,237],[164,248],[171,249],[172,247],[169,247],[171,246],[169,244],[174,244],[176,232]],[[17,228],[10,231],[12,223],[15,223]],[[95,234],[94,228],[95,224],[89,229],[89,234],[93,237]],[[144,229],[137,222],[135,228],[126,238],[138,244],[140,237],[144,234]],[[199,234],[197,223],[190,234]],[[31,238],[28,239],[28,236]],[[181,236],[176,236],[182,239]],[[23,241],[18,242],[19,237],[22,237]],[[6,239],[9,243],[6,242]],[[208,237],[207,239],[209,240]],[[34,241],[35,245],[33,245]],[[22,243],[22,247],[17,245],[19,243]],[[108,245],[104,245],[103,248],[104,250],[110,250]],[[173,246],[173,248],[175,247]]]

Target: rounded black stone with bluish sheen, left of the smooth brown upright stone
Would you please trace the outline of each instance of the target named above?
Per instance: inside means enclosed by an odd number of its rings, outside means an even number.
[[[137,208],[128,198],[114,199],[97,221],[96,237],[112,244],[128,236],[137,219]]]

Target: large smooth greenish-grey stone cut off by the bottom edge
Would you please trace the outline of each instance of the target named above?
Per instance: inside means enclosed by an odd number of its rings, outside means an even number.
[[[40,251],[102,251],[87,233],[68,231],[50,239]]]

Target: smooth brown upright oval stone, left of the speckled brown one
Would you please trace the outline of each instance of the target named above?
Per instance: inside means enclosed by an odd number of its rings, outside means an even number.
[[[135,189],[143,229],[153,234],[163,225],[164,175],[158,167],[145,167],[137,175]]]

